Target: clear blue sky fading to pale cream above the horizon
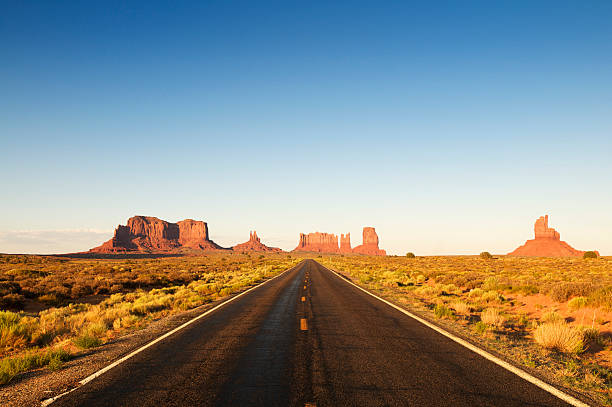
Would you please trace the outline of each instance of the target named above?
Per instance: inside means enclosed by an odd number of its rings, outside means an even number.
[[[612,255],[610,1],[3,1],[0,252],[135,214]]]

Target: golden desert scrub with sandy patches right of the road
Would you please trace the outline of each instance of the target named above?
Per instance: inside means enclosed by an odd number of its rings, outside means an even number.
[[[325,256],[354,282],[612,405],[612,258]]]

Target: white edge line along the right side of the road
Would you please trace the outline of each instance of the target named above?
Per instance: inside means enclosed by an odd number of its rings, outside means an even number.
[[[325,267],[325,266],[323,266]],[[347,280],[346,278],[344,278],[342,275],[340,275],[338,272],[331,270],[327,267],[325,267],[326,269],[328,269],[329,271],[331,271],[332,273],[334,273],[340,280],[347,282],[348,284],[351,284],[355,287],[357,287],[358,289],[360,289],[361,291],[363,291],[366,294],[371,295],[372,297],[384,302],[385,304],[389,305],[390,307],[395,308],[396,310],[408,315],[409,317],[417,320],[418,322],[422,323],[423,325],[433,329],[434,331],[446,336],[447,338],[457,342],[458,344],[468,348],[469,350],[471,350],[472,352],[475,352],[477,354],[479,354],[480,356],[484,357],[485,359],[490,360],[491,362],[495,363],[496,365],[499,365],[501,367],[503,367],[504,369],[514,373],[515,375],[519,376],[520,378],[527,380],[528,382],[538,386],[539,388],[541,388],[542,390],[545,390],[547,392],[549,392],[550,394],[560,398],[561,400],[571,404],[572,406],[575,407],[589,407],[588,404],[578,400],[575,397],[570,396],[567,393],[562,392],[561,390],[557,389],[556,387],[538,379],[535,376],[530,375],[529,373],[525,372],[522,369],[519,369],[518,367],[511,365],[508,362],[503,361],[502,359],[498,358],[497,356],[493,356],[492,354],[490,354],[489,352],[475,346],[472,345],[471,343],[469,343],[466,340],[463,340],[461,338],[459,338],[458,336],[453,335],[452,333],[445,331],[444,329],[440,328],[437,325],[432,324],[431,322],[419,317],[418,315],[413,314],[410,311],[406,311],[405,309],[379,297],[378,295],[371,293],[370,291],[359,287],[357,284],[353,283],[352,281]]]

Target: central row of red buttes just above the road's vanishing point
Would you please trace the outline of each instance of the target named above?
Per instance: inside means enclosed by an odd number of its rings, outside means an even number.
[[[385,256],[387,253],[378,248],[378,235],[372,227],[363,228],[363,244],[351,248],[351,234],[340,235],[340,246],[338,236],[331,233],[300,233],[300,241],[293,251],[317,252],[317,253],[358,253],[370,256]]]

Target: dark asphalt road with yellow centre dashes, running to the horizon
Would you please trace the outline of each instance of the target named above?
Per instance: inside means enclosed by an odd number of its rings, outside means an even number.
[[[567,405],[306,260],[52,406],[309,403]]]

